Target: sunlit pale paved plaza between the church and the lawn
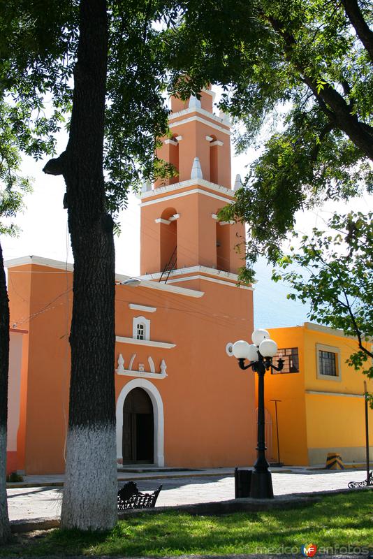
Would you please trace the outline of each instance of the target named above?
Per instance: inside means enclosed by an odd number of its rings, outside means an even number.
[[[201,475],[202,473],[206,473]],[[182,476],[182,477],[181,477]],[[147,477],[148,479],[143,479]],[[157,507],[180,504],[195,504],[200,502],[224,501],[233,499],[235,496],[235,481],[231,469],[209,470],[209,472],[190,472],[177,477],[170,474],[168,477],[159,479],[157,474],[149,475],[127,474],[127,479],[135,479],[140,491],[153,491],[163,484],[163,489],[156,503]],[[36,476],[34,479],[38,479]],[[52,518],[59,516],[61,509],[62,488],[47,486],[53,481],[59,481],[56,477],[43,477],[36,483],[45,483],[45,486],[8,488],[8,511],[10,520],[31,520],[34,518]],[[119,474],[119,480],[124,479]],[[291,493],[311,493],[318,491],[330,491],[332,489],[346,488],[349,481],[363,481],[365,471],[363,470],[317,470],[272,473],[272,482],[275,495],[286,495]],[[26,479],[32,484],[32,478]],[[119,481],[119,485],[124,481]]]

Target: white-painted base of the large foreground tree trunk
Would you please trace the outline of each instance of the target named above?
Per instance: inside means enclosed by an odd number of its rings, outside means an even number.
[[[117,520],[115,426],[69,428],[61,528],[108,530]]]

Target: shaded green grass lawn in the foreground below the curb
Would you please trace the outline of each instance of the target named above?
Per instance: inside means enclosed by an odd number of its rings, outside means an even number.
[[[120,521],[110,532],[49,530],[37,537],[18,535],[0,549],[0,557],[300,553],[302,544],[311,543],[319,548],[372,546],[372,491],[335,495],[284,511],[226,516],[142,514]]]

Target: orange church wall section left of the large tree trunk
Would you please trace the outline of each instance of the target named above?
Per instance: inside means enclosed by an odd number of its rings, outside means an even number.
[[[18,468],[27,474],[64,471],[68,417],[72,274],[46,266],[8,270],[10,323],[26,327]],[[29,285],[24,290],[23,283]]]

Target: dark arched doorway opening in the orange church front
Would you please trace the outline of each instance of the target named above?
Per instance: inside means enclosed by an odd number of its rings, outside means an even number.
[[[154,412],[145,390],[134,388],[123,405],[123,463],[154,463]]]

